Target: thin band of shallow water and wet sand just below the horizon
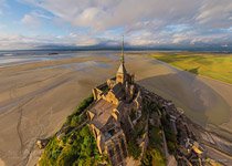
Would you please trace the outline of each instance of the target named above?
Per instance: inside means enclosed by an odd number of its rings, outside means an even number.
[[[116,53],[119,54],[119,50],[82,50],[82,51],[70,51],[70,50],[12,50],[12,51],[0,51],[0,68],[7,68],[7,66],[14,66],[14,65],[21,65],[27,63],[34,63],[40,61],[50,61],[50,60],[63,60],[72,56],[80,56],[83,54],[98,54],[101,53]],[[230,53],[225,52],[211,52],[211,51],[204,51],[204,52],[198,52],[198,51],[181,51],[181,50],[175,50],[175,51],[160,51],[160,50],[126,50],[126,54],[148,54],[148,53],[212,53],[221,55],[229,55]]]

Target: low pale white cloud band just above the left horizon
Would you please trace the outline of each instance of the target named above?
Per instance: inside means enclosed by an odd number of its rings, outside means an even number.
[[[101,39],[93,39],[88,35],[71,33],[68,35],[20,35],[6,34],[0,32],[0,50],[40,49],[50,46],[86,46],[99,44]]]

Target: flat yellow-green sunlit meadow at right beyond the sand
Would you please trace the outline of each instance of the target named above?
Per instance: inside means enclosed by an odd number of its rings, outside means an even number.
[[[158,52],[151,55],[184,71],[232,84],[232,54]]]

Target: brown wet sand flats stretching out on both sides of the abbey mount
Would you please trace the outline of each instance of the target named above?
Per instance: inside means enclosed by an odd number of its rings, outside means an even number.
[[[92,87],[114,76],[118,59],[89,55],[0,69],[0,159],[33,165],[36,138],[54,134]],[[126,68],[138,83],[172,100],[194,122],[232,132],[232,85],[145,55],[127,55]]]

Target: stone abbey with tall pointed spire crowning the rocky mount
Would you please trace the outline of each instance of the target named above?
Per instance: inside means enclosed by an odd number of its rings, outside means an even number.
[[[141,116],[141,92],[134,74],[125,68],[124,51],[116,76],[107,80],[106,89],[93,89],[94,104],[87,110],[89,128],[101,154],[108,155],[113,165],[124,165],[128,156],[126,135]],[[134,118],[130,118],[134,114]]]

